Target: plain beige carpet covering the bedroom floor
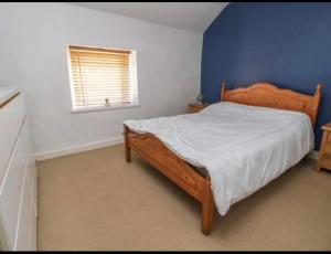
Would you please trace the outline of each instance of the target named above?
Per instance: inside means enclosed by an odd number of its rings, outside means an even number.
[[[216,214],[124,147],[39,162],[39,250],[331,250],[331,173],[306,159]]]

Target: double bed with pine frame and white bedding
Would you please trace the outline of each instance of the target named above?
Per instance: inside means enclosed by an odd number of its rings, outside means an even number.
[[[256,83],[228,91],[200,113],[127,120],[126,160],[134,150],[202,205],[202,233],[215,210],[254,193],[313,148],[321,97]]]

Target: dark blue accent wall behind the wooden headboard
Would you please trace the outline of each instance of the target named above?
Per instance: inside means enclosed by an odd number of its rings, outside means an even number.
[[[201,93],[220,99],[228,88],[270,82],[313,94],[323,85],[316,127],[331,121],[331,3],[232,3],[203,35]]]

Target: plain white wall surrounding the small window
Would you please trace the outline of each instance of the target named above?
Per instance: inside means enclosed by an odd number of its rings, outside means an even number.
[[[141,106],[72,114],[66,44],[137,50]],[[0,3],[0,85],[25,94],[40,156],[110,144],[125,119],[184,113],[200,91],[201,50],[202,34],[185,30],[66,3]]]

